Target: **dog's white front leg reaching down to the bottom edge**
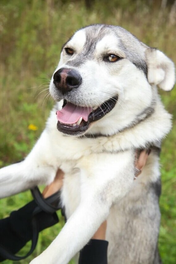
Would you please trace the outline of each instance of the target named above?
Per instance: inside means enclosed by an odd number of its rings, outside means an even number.
[[[90,240],[107,219],[112,203],[124,197],[132,185],[134,158],[129,153],[82,160],[80,204],[57,238],[31,264],[66,264]]]

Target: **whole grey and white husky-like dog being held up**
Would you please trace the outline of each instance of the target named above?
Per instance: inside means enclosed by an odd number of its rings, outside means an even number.
[[[65,173],[68,220],[32,264],[68,263],[106,219],[109,264],[161,263],[159,152],[171,115],[157,87],[174,83],[173,62],[122,27],[90,25],[63,45],[46,128],[24,161],[0,170],[1,197]],[[145,148],[151,153],[133,181],[135,152]]]

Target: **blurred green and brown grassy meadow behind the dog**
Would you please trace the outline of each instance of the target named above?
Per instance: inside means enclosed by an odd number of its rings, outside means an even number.
[[[175,0],[1,0],[0,166],[19,161],[31,150],[53,105],[48,85],[59,61],[61,46],[75,30],[92,23],[120,25],[176,62]],[[161,153],[159,250],[163,263],[174,264],[176,89],[160,93],[166,109],[173,114],[173,130],[164,140]],[[29,200],[29,191],[0,200],[0,219]],[[19,263],[29,263],[49,245],[63,225],[60,218],[60,224],[40,234],[34,253]],[[30,242],[21,253],[29,248]]]

